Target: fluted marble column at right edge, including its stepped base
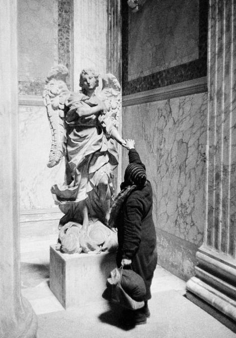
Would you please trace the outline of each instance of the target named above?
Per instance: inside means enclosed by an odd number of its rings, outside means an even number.
[[[236,1],[210,0],[204,243],[187,297],[236,321]],[[209,309],[210,309],[209,308]],[[207,309],[207,307],[206,307]],[[236,326],[232,324],[234,329]]]

